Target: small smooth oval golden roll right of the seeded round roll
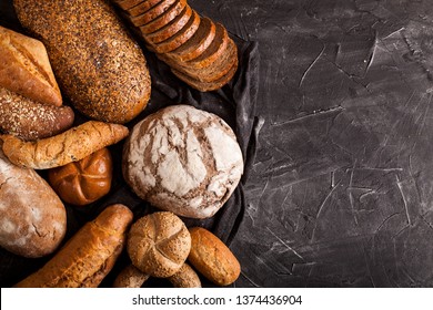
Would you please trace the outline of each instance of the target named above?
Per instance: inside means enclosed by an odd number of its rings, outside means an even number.
[[[191,251],[188,260],[210,281],[219,286],[233,283],[241,266],[232,251],[211,231],[202,227],[190,228]]]

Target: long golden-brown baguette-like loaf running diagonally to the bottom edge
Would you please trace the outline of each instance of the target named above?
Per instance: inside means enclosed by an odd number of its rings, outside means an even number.
[[[111,271],[123,249],[132,211],[108,206],[85,224],[41,269],[17,288],[95,288]]]

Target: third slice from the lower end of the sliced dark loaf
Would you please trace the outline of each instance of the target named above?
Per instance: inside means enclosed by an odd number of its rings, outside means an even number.
[[[216,23],[215,37],[212,43],[198,58],[188,62],[191,68],[205,68],[215,62],[226,50],[229,34],[221,23]]]

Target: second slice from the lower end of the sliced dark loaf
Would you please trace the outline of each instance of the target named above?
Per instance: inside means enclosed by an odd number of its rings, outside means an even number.
[[[194,80],[200,82],[213,82],[224,76],[230,69],[238,61],[238,48],[232,39],[229,39],[229,44],[226,50],[221,54],[212,65],[204,68],[191,68],[189,63],[181,63],[169,59],[165,54],[159,54],[159,59],[169,64],[172,69],[175,69]]]

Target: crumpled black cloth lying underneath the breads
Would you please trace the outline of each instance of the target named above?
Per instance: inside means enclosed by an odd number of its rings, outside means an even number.
[[[9,1],[8,1],[9,2]],[[10,4],[1,1],[0,24],[21,31],[13,10]],[[216,213],[215,216],[198,220],[182,218],[188,227],[202,226],[224,242],[230,245],[235,236],[246,206],[243,188],[248,179],[249,170],[255,155],[255,142],[258,131],[254,126],[258,124],[255,116],[256,94],[259,89],[259,49],[256,42],[246,42],[235,35],[231,35],[239,48],[239,69],[233,80],[221,90],[202,93],[189,87],[185,83],[178,80],[170,71],[170,68],[159,61],[157,56],[143,48],[152,79],[152,95],[147,108],[133,121],[127,124],[132,128],[134,124],[151,113],[162,107],[173,104],[189,104],[200,110],[214,113],[222,117],[235,132],[242,154],[245,162],[244,175],[236,187],[232,197]],[[68,103],[68,99],[64,99]],[[75,123],[85,122],[87,118],[75,114]],[[68,210],[68,231],[64,241],[87,221],[93,219],[103,208],[111,204],[124,204],[134,213],[134,219],[155,211],[147,202],[141,200],[124,183],[121,174],[122,143],[110,146],[114,161],[113,183],[109,195],[84,207],[66,206]],[[39,172],[46,177],[46,172]],[[26,276],[43,266],[51,256],[40,259],[26,259],[14,256],[4,249],[0,249],[0,286],[10,287]],[[101,286],[111,286],[115,275],[129,264],[129,258],[123,251],[112,272],[104,279]],[[165,286],[163,281],[155,281],[151,285]],[[209,283],[204,283],[205,286]]]

